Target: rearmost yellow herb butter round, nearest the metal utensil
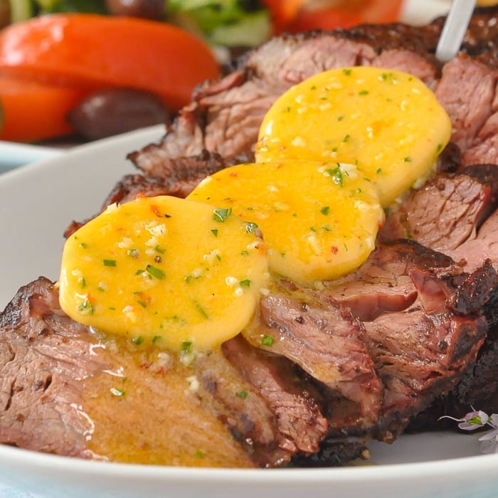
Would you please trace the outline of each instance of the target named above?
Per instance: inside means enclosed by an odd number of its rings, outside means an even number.
[[[364,66],[334,69],[277,99],[261,124],[256,161],[357,164],[388,206],[427,179],[450,135],[450,118],[415,76]]]

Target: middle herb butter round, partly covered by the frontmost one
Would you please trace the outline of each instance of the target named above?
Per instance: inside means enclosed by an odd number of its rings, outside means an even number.
[[[299,282],[359,267],[384,214],[376,189],[354,165],[318,161],[232,166],[208,176],[189,198],[231,208],[258,225],[270,270]]]

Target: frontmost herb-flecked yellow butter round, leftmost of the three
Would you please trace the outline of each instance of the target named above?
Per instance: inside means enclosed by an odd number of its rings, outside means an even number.
[[[253,317],[267,248],[226,209],[159,196],[112,205],[68,238],[60,305],[136,343],[212,349]]]

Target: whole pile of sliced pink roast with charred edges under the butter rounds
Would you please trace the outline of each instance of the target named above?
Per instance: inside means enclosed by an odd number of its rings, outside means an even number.
[[[103,203],[186,196],[208,174],[251,161],[272,102],[315,73],[406,70],[447,110],[452,142],[438,173],[388,214],[359,270],[319,289],[276,280],[247,329],[189,365],[189,388],[169,377],[175,359],[103,339],[65,316],[53,282],[28,283],[0,314],[0,442],[126,461],[125,443],[109,443],[98,423],[119,425],[126,439],[144,403],[122,396],[127,409],[117,410],[120,389],[112,402],[97,394],[123,364],[122,376],[143,384],[146,403],[150,396],[143,413],[152,410],[155,430],[176,423],[164,447],[181,452],[192,433],[206,455],[225,455],[204,465],[344,465],[368,458],[371,440],[444,428],[440,415],[498,410],[498,9],[475,11],[462,51],[445,64],[434,56],[443,22],[272,39],[197,88],[161,142],[130,152],[137,173]],[[97,398],[116,426],[95,415]],[[173,398],[191,403],[189,418],[171,413]],[[136,438],[140,455],[160,453],[160,441]],[[169,465],[196,465],[175,458]]]

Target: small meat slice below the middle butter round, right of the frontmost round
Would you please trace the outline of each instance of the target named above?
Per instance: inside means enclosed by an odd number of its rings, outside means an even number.
[[[357,406],[354,424],[378,420],[383,387],[364,342],[364,329],[349,309],[329,302],[321,307],[286,295],[265,297],[261,320],[243,331],[253,346],[285,356]],[[272,337],[265,346],[261,337]],[[342,423],[347,420],[343,417]],[[351,424],[351,422],[349,422]]]

